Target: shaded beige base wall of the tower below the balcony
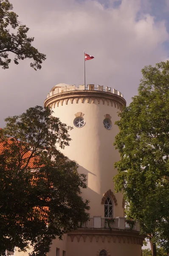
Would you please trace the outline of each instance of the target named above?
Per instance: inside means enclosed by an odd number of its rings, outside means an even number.
[[[76,236],[72,241],[67,235],[62,241],[55,239],[47,256],[56,256],[56,248],[60,249],[59,256],[63,255],[63,250],[66,256],[99,256],[101,250],[106,250],[108,256],[141,256],[141,244],[127,242],[124,236],[110,239],[110,236],[104,237],[99,233],[97,241],[96,237],[91,241],[91,236],[87,236],[85,241],[82,236],[79,241]]]

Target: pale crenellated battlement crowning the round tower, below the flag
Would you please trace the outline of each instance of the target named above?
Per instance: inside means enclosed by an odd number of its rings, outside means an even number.
[[[50,93],[48,93],[47,98],[57,93],[64,93],[64,92],[69,92],[73,90],[98,90],[98,91],[113,93],[123,98],[123,94],[120,91],[111,89],[111,87],[108,87],[108,86],[106,86],[106,89],[103,89],[103,85],[99,85],[99,84],[97,87],[95,87],[94,84],[87,84],[87,87],[85,87],[85,84],[79,85],[79,87],[76,87],[75,85],[70,85],[70,84],[56,84],[56,86],[54,86],[51,89]]]

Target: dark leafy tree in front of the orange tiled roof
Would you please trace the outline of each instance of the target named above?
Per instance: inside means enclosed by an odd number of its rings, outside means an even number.
[[[56,236],[88,219],[80,196],[86,177],[59,151],[69,145],[71,127],[51,114],[29,108],[0,130],[0,255],[30,243],[31,255],[45,256]]]

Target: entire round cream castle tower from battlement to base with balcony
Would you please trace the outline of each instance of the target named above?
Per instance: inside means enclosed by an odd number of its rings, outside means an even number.
[[[136,223],[124,218],[124,200],[115,193],[114,163],[120,160],[113,142],[118,134],[114,124],[126,101],[111,88],[94,84],[57,84],[44,102],[54,116],[70,126],[71,142],[61,150],[79,164],[78,172],[87,175],[82,197],[90,201],[90,220],[76,231],[56,239],[49,256],[141,256],[143,237]],[[108,219],[108,220],[107,220]],[[57,249],[56,249],[57,248]]]

